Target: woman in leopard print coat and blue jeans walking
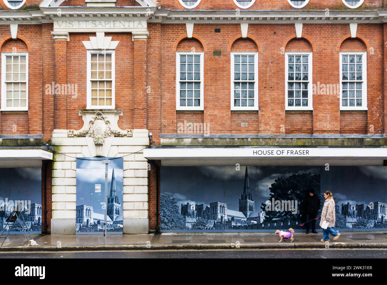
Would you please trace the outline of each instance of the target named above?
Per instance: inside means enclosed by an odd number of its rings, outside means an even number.
[[[325,202],[321,211],[320,226],[324,221],[327,221],[329,224],[326,230],[322,229],[322,234],[324,235],[324,238],[321,240],[322,242],[326,242],[329,240],[329,234],[334,236],[333,240],[337,240],[341,235],[339,231],[335,231],[333,229],[336,221],[336,211],[335,211],[336,204],[335,204],[335,201],[333,200],[332,193],[330,191],[325,191],[324,198],[325,198]]]

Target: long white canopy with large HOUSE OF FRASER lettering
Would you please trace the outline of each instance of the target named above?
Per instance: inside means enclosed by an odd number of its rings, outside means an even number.
[[[153,147],[147,159],[162,166],[383,166],[386,147]]]

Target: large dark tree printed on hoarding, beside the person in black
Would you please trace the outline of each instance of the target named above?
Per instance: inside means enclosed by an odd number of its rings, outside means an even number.
[[[297,203],[298,213],[292,214],[290,209],[288,211],[273,211],[274,205],[271,205],[270,209],[267,210],[266,204],[262,203],[261,209],[265,211],[265,222],[279,219],[283,222],[291,221],[295,223],[299,217],[301,203],[306,193],[309,193],[310,188],[313,188],[316,195],[320,197],[320,174],[301,173],[276,178],[269,187],[270,195],[268,200],[270,202],[272,202],[272,199],[280,202],[294,200],[294,203]]]

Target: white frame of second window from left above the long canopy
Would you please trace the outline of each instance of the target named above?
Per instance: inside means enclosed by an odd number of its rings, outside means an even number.
[[[254,107],[238,107],[234,106],[234,55],[254,55]],[[258,52],[231,52],[231,110],[254,110],[258,107]],[[247,81],[248,82],[248,81]]]

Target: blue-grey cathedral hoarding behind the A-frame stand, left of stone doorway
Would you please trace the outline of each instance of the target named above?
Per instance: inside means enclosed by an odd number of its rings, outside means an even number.
[[[13,211],[20,211],[20,220],[7,222]],[[0,168],[0,230],[24,235],[23,228],[42,232],[41,168]]]

